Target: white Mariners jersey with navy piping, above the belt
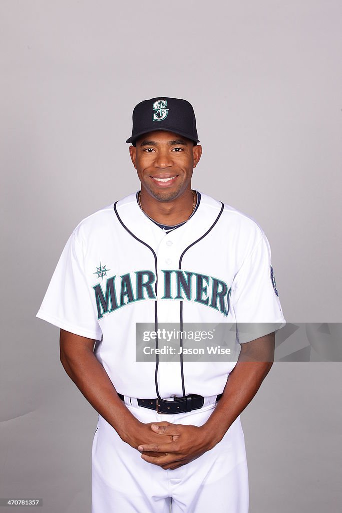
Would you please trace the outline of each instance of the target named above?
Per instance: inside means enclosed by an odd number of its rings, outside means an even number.
[[[284,323],[264,231],[200,195],[184,225],[165,233],[136,194],[73,230],[37,317],[98,341],[115,389],[135,398],[223,391],[235,362],[135,361],[135,323]],[[260,333],[260,336],[266,333]],[[247,340],[242,340],[246,342]],[[156,390],[156,388],[158,390]]]

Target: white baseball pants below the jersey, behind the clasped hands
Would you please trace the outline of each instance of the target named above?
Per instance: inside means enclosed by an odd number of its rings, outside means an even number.
[[[203,425],[215,408],[160,415],[125,397],[131,413],[144,423]],[[132,402],[132,404],[131,404]],[[240,418],[213,449],[175,470],[147,463],[99,416],[92,446],[92,513],[248,513],[245,439]]]

